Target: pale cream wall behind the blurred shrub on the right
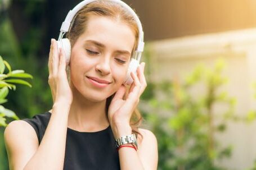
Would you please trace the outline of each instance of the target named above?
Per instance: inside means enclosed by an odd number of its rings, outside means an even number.
[[[216,59],[223,57],[227,63],[223,75],[230,80],[223,90],[237,99],[236,114],[245,116],[250,109],[256,111],[251,88],[251,83],[256,82],[256,29],[187,36],[147,45],[154,63],[151,66],[154,81],[174,77],[182,80],[198,63],[213,67]],[[219,111],[221,107],[216,107],[216,114]],[[256,122],[228,125],[227,131],[216,137],[222,145],[233,145],[232,158],[219,164],[228,169],[251,167],[256,159]]]

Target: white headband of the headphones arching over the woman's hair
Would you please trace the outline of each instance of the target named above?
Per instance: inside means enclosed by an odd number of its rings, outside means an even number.
[[[69,27],[71,24],[71,21],[73,20],[75,14],[81,10],[84,6],[86,6],[87,4],[91,3],[91,2],[95,2],[98,0],[84,0],[82,2],[80,2],[79,4],[77,4],[77,6],[75,6],[73,8],[73,10],[70,10],[68,15],[66,16],[66,19],[64,22],[62,22],[61,28],[60,28],[60,36],[59,36],[59,40],[62,38],[62,36],[69,31]],[[124,8],[126,8],[134,17],[134,20],[137,23],[138,26],[138,30],[139,30],[139,37],[138,37],[138,46],[136,51],[137,52],[143,52],[143,48],[144,48],[144,42],[143,42],[143,30],[142,30],[142,25],[141,25],[141,21],[138,18],[138,16],[136,15],[136,13],[132,10],[132,8],[130,6],[128,6],[128,4],[124,3],[123,1],[120,0],[108,0],[108,1],[112,1],[112,2],[116,2],[118,4],[120,4],[121,6],[123,6]]]

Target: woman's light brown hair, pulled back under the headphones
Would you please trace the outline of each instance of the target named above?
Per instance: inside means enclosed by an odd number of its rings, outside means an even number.
[[[66,35],[66,38],[70,40],[71,47],[74,45],[78,37],[86,30],[87,22],[90,15],[110,17],[111,19],[115,19],[116,21],[123,21],[124,24],[127,24],[129,27],[131,27],[136,39],[136,43],[134,43],[134,47],[132,50],[132,54],[134,53],[134,50],[136,49],[138,44],[138,26],[136,24],[136,21],[134,20],[133,15],[131,15],[131,13],[120,4],[106,0],[89,3],[84,6],[80,11],[78,11],[76,16],[74,17],[69,32]],[[106,114],[113,97],[114,94],[106,100]],[[140,132],[138,132],[138,127],[141,125],[142,121],[143,118],[140,112],[138,112],[138,109],[135,109],[135,111],[132,113],[130,126],[132,127],[132,132],[134,132],[134,134],[136,135],[140,135],[141,137],[143,136]]]

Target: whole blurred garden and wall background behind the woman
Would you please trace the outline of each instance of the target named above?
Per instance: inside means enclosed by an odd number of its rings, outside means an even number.
[[[0,55],[34,77],[3,104],[20,119],[51,108],[50,39],[79,2],[0,0]],[[139,108],[158,139],[158,169],[256,169],[256,0],[124,2],[145,33]],[[0,169],[8,169],[4,130]]]

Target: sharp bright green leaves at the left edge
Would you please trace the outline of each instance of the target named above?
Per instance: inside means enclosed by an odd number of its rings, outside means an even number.
[[[8,68],[7,74],[4,73],[6,67]],[[10,79],[10,77],[15,79]],[[33,79],[32,75],[25,73],[24,70],[12,71],[9,63],[3,60],[3,58],[0,56],[0,126],[7,126],[5,117],[14,118],[15,120],[19,119],[13,111],[3,107],[2,105],[3,103],[7,102],[6,97],[9,93],[9,89],[16,90],[16,85],[14,84],[23,84],[29,86],[30,88],[32,87],[29,82],[17,78]]]

